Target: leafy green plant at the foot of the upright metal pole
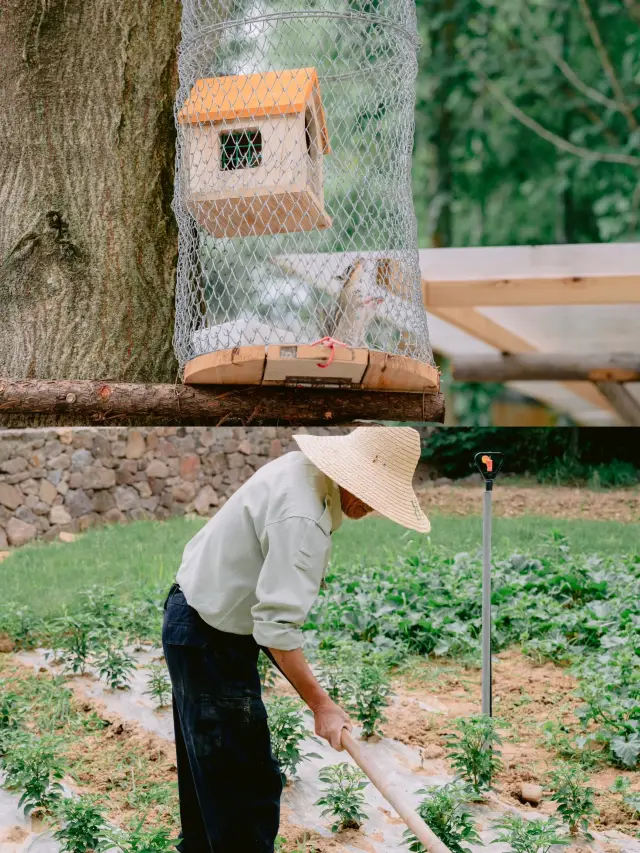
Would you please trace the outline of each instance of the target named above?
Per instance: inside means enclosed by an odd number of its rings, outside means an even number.
[[[502,761],[496,749],[502,743],[493,717],[478,715],[456,720],[456,732],[446,736],[449,760],[476,794],[490,790]]]

